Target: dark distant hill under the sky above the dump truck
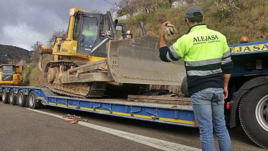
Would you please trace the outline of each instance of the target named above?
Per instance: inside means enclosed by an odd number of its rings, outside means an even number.
[[[0,64],[16,63],[20,59],[28,61],[30,51],[11,45],[0,45]]]

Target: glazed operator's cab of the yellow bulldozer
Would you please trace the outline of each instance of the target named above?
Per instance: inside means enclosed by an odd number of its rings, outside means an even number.
[[[71,28],[73,29],[73,40],[77,41],[77,53],[99,57],[107,56],[106,43],[115,39],[117,34],[122,36],[125,33],[125,24],[115,20],[111,26],[109,20],[112,19],[107,14],[78,11],[74,27]],[[115,34],[113,28],[115,28]]]

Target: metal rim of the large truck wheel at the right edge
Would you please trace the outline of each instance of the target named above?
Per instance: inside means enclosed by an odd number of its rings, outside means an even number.
[[[268,131],[268,95],[259,100],[255,115],[259,125]]]

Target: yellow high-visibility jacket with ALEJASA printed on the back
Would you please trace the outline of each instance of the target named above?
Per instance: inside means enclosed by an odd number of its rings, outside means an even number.
[[[231,74],[233,67],[226,37],[206,24],[191,27],[169,48],[159,50],[162,61],[184,59],[189,94],[205,88],[224,88],[223,74]]]

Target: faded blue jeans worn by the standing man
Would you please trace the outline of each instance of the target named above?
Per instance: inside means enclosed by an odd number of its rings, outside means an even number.
[[[206,88],[191,95],[191,104],[199,125],[202,150],[215,151],[213,127],[221,151],[232,150],[231,139],[224,120],[222,88]]]

